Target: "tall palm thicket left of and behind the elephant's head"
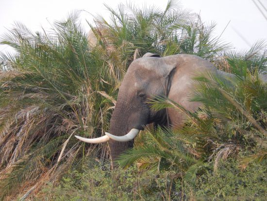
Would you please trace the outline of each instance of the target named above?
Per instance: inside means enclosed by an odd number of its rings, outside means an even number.
[[[16,23],[1,38],[16,51],[0,53],[1,199],[57,181],[85,156],[108,159],[106,145],[85,145],[73,135],[101,136],[109,127],[119,83],[134,58],[152,51],[212,60],[226,47],[211,37],[213,26],[173,0],[164,11],[131,4],[107,8],[110,22],[96,17],[90,24],[98,38],[95,47],[88,44],[79,12],[49,31],[33,33]],[[101,35],[98,27],[108,34]]]

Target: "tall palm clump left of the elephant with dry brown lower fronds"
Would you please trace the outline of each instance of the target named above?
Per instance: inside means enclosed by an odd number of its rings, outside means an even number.
[[[112,93],[113,86],[95,82],[104,61],[88,46],[77,15],[44,33],[17,23],[2,40],[17,54],[1,55],[8,68],[1,71],[0,89],[1,196],[25,182],[56,181],[77,156],[93,149],[108,157],[106,146],[85,148],[72,138],[101,135],[114,106],[99,92]]]

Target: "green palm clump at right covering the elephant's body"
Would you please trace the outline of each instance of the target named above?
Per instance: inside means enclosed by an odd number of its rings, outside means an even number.
[[[203,160],[214,159],[215,171],[220,159],[235,157],[246,146],[266,148],[267,116],[264,99],[267,99],[267,87],[260,80],[257,68],[251,69],[248,65],[247,62],[251,64],[252,61],[245,61],[253,57],[254,64],[260,63],[261,72],[264,72],[264,48],[262,43],[256,44],[248,53],[244,53],[247,58],[240,55],[237,57],[243,63],[229,62],[228,68],[235,69],[234,75],[206,73],[193,77],[195,91],[190,101],[202,103],[195,112],[185,110],[166,97],[150,100],[152,110],[172,108],[184,113],[186,120],[183,129],[172,131],[176,140],[182,142],[190,154]],[[239,65],[239,69],[233,65]],[[240,65],[243,66],[240,68]],[[243,69],[242,73],[240,69]],[[248,161],[257,158],[256,155],[248,156]],[[258,158],[265,158],[264,154],[259,155]]]

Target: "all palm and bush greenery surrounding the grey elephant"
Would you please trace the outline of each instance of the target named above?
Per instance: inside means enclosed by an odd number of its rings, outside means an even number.
[[[164,11],[107,9],[108,21],[89,24],[96,45],[88,43],[79,12],[49,31],[32,33],[16,23],[1,37],[16,54],[0,54],[0,199],[266,197],[267,88],[259,79],[267,72],[265,43],[230,51],[213,37],[214,24],[172,0]],[[120,156],[121,168],[110,171],[107,144],[84,144],[73,135],[108,130],[123,75],[146,52],[199,55],[235,77],[197,76],[191,99],[202,107],[194,113],[166,97],[153,100],[153,110],[184,112],[184,128],[148,126]]]

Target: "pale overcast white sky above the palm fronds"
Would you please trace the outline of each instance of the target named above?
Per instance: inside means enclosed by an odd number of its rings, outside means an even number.
[[[108,18],[103,3],[115,8],[120,2],[125,3],[126,0],[0,0],[0,35],[12,27],[14,21],[24,23],[32,31],[41,30],[41,26],[46,29],[50,27],[48,21],[52,23],[54,20],[65,18],[73,10],[86,10],[91,14],[100,14]],[[162,9],[167,4],[167,0],[128,0],[128,2],[139,6],[146,3]],[[254,0],[254,2],[267,16],[265,10],[267,0]],[[203,21],[216,22],[216,35],[220,35],[231,20],[221,38],[225,42],[231,42],[236,49],[249,49],[257,40],[267,40],[267,19],[253,0],[180,0],[180,3],[184,8],[200,13]],[[83,12],[81,18],[92,20],[86,12]],[[89,27],[86,27],[89,30]],[[0,51],[6,50],[8,48],[0,46]]]

